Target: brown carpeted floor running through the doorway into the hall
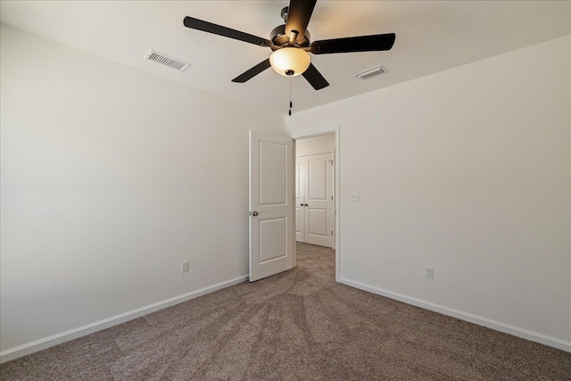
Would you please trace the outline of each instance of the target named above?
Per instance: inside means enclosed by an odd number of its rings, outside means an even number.
[[[2,380],[569,380],[571,353],[335,283],[335,253],[0,366]]]

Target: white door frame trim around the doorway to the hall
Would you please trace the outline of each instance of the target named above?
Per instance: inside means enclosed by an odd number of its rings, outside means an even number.
[[[335,158],[335,281],[339,282],[339,278],[341,277],[341,126],[336,125],[330,127],[314,128],[307,131],[291,132],[290,137],[292,137],[294,140],[299,140],[307,137],[319,137],[320,135],[327,134],[335,134],[335,150],[333,153]],[[295,154],[297,154],[297,152]],[[294,267],[296,264],[296,257],[297,253],[294,250]]]

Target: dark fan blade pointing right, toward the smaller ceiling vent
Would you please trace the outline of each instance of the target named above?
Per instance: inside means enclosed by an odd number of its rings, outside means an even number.
[[[311,53],[333,54],[391,50],[395,37],[394,33],[387,33],[385,35],[324,39],[311,43]]]

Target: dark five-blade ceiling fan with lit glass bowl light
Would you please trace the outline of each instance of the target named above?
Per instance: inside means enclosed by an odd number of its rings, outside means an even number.
[[[334,54],[352,52],[373,52],[390,50],[394,44],[394,33],[383,35],[333,38],[310,42],[307,26],[317,0],[290,0],[289,7],[282,9],[285,25],[280,25],[269,34],[270,39],[252,36],[236,29],[229,29],[208,21],[185,17],[187,28],[198,29],[215,35],[234,38],[257,46],[269,47],[273,53],[268,59],[232,79],[244,83],[270,66],[280,75],[295,77],[302,75],[310,85],[319,90],[329,83],[311,63],[311,54]]]

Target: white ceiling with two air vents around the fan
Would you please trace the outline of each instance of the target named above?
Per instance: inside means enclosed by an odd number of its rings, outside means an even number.
[[[289,79],[265,70],[231,82],[266,59],[269,48],[183,26],[185,16],[269,37],[288,1],[2,1],[0,21],[115,62],[284,114]],[[567,1],[318,1],[313,40],[396,33],[388,52],[312,55],[330,83],[316,91],[293,81],[294,112],[482,60],[570,33]],[[192,67],[185,72],[145,61],[156,50]],[[354,74],[382,64],[388,73]],[[522,62],[525,65],[525,62]],[[542,70],[530,68],[530,70]]]

